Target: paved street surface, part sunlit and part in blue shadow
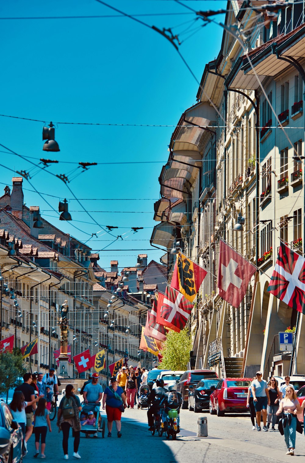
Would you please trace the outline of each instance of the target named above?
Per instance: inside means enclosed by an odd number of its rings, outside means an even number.
[[[208,438],[197,438],[197,419],[208,417]],[[102,416],[106,419],[105,413]],[[115,426],[112,438],[85,438],[81,434],[79,453],[82,460],[97,459],[111,461],[118,454],[125,462],[135,461],[137,452],[145,453],[145,463],[199,463],[199,462],[304,462],[305,437],[297,433],[295,456],[286,456],[284,437],[276,432],[252,431],[250,418],[245,415],[227,414],[224,418],[211,416],[208,412],[194,413],[181,410],[182,431],[176,441],[152,436],[148,431],[146,410],[126,409],[122,419],[122,438],[116,437]],[[277,426],[276,426],[277,427]],[[63,460],[62,434],[58,434],[56,419],[52,422],[52,434],[46,439],[46,460]],[[73,443],[69,439],[69,456],[72,459]],[[123,452],[123,454],[122,454]],[[28,444],[25,461],[32,460],[34,438]],[[74,460],[74,459],[73,459]]]

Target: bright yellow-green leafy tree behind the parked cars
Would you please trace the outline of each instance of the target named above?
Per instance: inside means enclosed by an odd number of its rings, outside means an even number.
[[[192,339],[188,334],[188,329],[184,328],[180,333],[169,331],[166,341],[162,343],[160,353],[162,362],[159,363],[160,369],[185,370],[189,362],[189,353],[192,350]]]

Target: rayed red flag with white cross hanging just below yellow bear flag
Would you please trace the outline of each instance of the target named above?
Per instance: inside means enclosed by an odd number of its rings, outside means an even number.
[[[158,295],[157,323],[179,333],[186,325],[192,308],[193,304],[183,294],[167,286],[165,294]]]

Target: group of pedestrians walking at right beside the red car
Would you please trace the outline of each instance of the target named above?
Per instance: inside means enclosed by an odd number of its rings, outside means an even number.
[[[297,414],[303,412],[305,400],[302,405],[299,404],[294,387],[290,384],[290,377],[285,376],[285,383],[279,388],[276,378],[271,377],[267,383],[262,379],[261,371],[258,371],[248,388],[247,407],[250,410],[253,431],[261,431],[261,416],[263,431],[267,432],[270,425],[271,430],[275,431],[279,417],[278,430],[285,438],[286,455],[294,455],[296,432],[303,432]]]

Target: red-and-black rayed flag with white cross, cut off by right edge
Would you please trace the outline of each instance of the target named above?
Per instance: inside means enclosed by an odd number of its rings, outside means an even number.
[[[305,313],[305,258],[284,243],[280,244],[267,291],[287,306]]]

